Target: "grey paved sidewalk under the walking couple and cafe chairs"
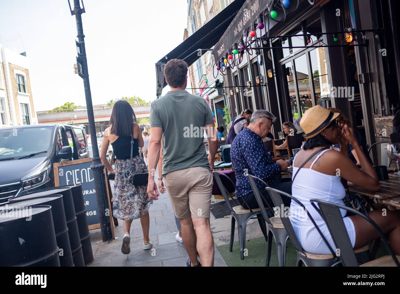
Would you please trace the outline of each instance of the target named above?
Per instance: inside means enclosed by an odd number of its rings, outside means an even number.
[[[156,171],[158,175],[158,171]],[[114,181],[111,181],[113,186]],[[215,199],[213,202],[224,201]],[[150,241],[153,247],[143,250],[143,233],[140,219],[132,222],[130,230],[130,254],[122,254],[121,245],[124,236],[122,220],[114,226],[116,239],[102,242],[100,229],[90,231],[94,262],[90,266],[186,266],[188,254],[182,243],[176,241],[178,229],[175,225],[174,211],[168,193],[160,194],[158,200],[150,205]],[[210,227],[214,236],[214,266],[226,266],[216,246],[229,244],[231,217],[215,219],[211,214]],[[262,237],[257,220],[249,220],[246,228],[247,239]],[[237,228],[235,241],[238,241]],[[233,252],[232,252],[233,253]],[[200,260],[200,258],[199,258]]]

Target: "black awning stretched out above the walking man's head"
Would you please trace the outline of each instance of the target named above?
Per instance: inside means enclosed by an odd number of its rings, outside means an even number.
[[[205,50],[200,52],[198,49],[210,49],[220,40],[222,34],[224,34],[236,12],[242,7],[244,2],[246,0],[233,1],[199,30],[194,32],[192,36],[184,40],[156,63],[157,97],[161,95],[162,89],[167,85],[164,79],[163,65],[168,60],[174,58],[184,59],[188,65],[193,64],[199,56],[207,52]],[[197,52],[200,52],[200,55]]]

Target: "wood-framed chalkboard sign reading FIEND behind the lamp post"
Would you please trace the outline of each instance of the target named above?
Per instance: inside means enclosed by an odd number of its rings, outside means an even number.
[[[83,190],[83,198],[86,208],[86,216],[88,218],[89,230],[100,228],[100,218],[97,208],[96,187],[94,185],[93,171],[90,168],[92,158],[84,158],[78,160],[70,160],[54,164],[54,182],[56,186],[81,184]],[[106,168],[104,168],[106,174]],[[106,183],[108,181],[105,178]],[[108,185],[106,185],[108,186]],[[108,187],[106,188],[109,194]],[[111,208],[110,197],[107,195],[108,207]],[[110,223],[112,224],[112,211],[109,210]],[[112,227],[113,228],[113,227]]]

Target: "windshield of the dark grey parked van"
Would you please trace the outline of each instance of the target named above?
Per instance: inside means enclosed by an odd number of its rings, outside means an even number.
[[[52,134],[51,127],[0,129],[0,160],[50,151]]]

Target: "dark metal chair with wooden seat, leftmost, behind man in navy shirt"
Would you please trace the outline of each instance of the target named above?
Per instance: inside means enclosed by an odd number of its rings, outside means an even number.
[[[232,185],[235,187],[236,191],[239,192],[239,189],[236,187],[236,184],[226,175],[222,174],[220,172],[212,172],[215,181],[217,182],[218,188],[220,188],[221,194],[224,197],[224,200],[226,202],[226,205],[228,206],[232,220],[231,220],[231,228],[230,228],[230,242],[229,242],[229,251],[232,252],[233,248],[233,240],[234,240],[234,234],[235,234],[235,222],[238,224],[238,235],[239,235],[239,244],[240,244],[240,259],[244,259],[244,248],[246,246],[246,225],[248,220],[251,218],[257,218],[258,223],[260,224],[260,228],[262,233],[264,234],[265,239],[267,240],[267,227],[265,224],[264,217],[261,213],[260,208],[257,209],[246,209],[243,206],[241,206],[227,191],[226,187],[222,183],[221,176],[224,176],[229,180],[229,182],[232,183]],[[242,195],[240,194],[242,197]],[[229,201],[229,197],[232,198],[232,200],[235,202],[236,206],[232,206],[232,204]],[[245,198],[242,198],[244,200],[244,203],[246,204],[247,207],[250,207],[248,203],[246,202]],[[265,208],[264,208],[265,209]]]

